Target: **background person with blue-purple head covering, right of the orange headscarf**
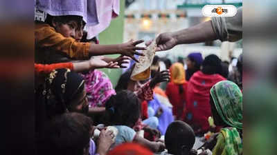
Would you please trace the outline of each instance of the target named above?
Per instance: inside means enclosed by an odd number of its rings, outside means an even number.
[[[186,59],[186,81],[190,80],[190,77],[193,74],[200,70],[200,66],[202,65],[203,59],[202,54],[199,52],[193,52],[188,54],[188,58]]]

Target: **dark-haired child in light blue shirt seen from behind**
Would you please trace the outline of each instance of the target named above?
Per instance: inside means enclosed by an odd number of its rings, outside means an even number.
[[[113,125],[118,129],[115,145],[136,142],[149,147],[153,152],[164,149],[161,142],[148,141],[137,135],[132,129],[141,117],[141,103],[134,92],[121,90],[106,103],[106,125]]]

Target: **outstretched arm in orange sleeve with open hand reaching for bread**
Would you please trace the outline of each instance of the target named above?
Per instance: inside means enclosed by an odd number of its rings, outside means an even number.
[[[35,44],[38,48],[51,48],[56,51],[64,52],[71,58],[84,59],[89,56],[105,55],[105,54],[122,54],[129,56],[135,61],[134,54],[143,55],[136,50],[146,50],[143,47],[137,47],[143,40],[128,41],[127,43],[115,45],[98,45],[92,43],[80,43],[73,38],[66,38],[62,34],[55,31],[48,25],[35,30]]]

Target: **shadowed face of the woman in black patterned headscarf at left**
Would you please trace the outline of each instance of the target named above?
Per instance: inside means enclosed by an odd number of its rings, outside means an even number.
[[[89,112],[89,101],[87,100],[86,90],[82,90],[77,97],[71,101],[71,112],[80,112],[82,114],[87,114]]]

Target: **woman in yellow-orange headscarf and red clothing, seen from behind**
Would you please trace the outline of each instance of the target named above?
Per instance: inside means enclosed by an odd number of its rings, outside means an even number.
[[[175,120],[180,120],[186,101],[186,75],[181,63],[174,63],[170,67],[170,83],[166,87],[166,95],[173,105],[172,112]]]

